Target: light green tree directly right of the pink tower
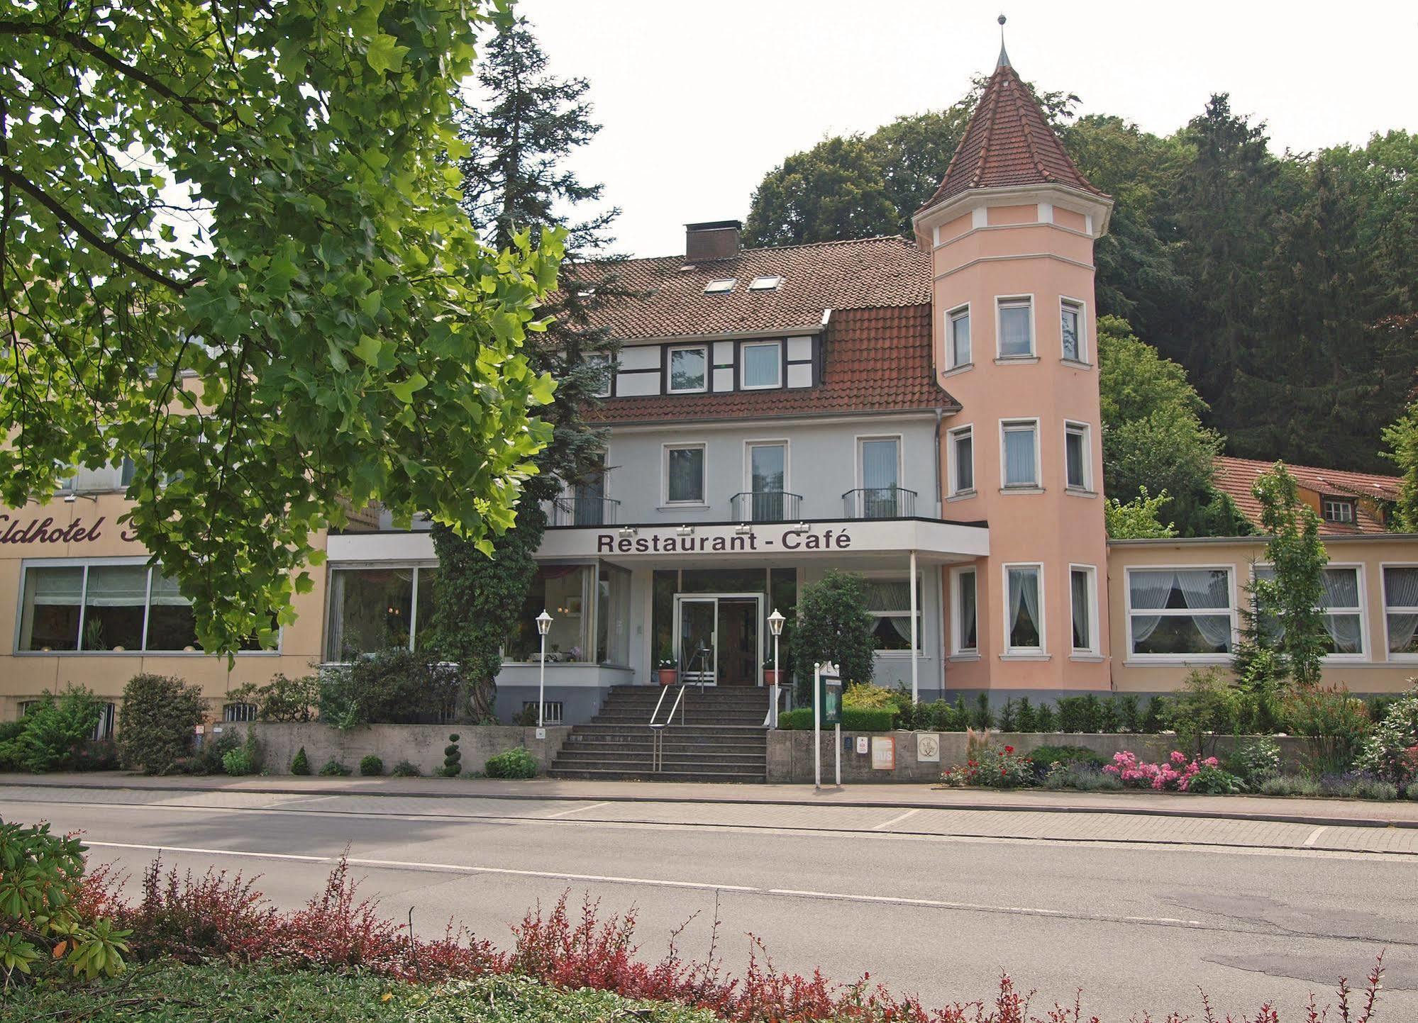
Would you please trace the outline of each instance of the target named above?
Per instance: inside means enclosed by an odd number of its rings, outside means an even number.
[[[1221,436],[1201,425],[1207,405],[1187,371],[1133,334],[1126,320],[1098,322],[1099,400],[1103,412],[1103,489],[1110,494],[1166,493],[1151,499],[1159,521],[1177,536],[1242,536],[1251,531],[1234,503],[1212,485]],[[1120,499],[1119,499],[1120,500]],[[1107,513],[1124,527],[1134,507],[1146,529],[1147,504]]]

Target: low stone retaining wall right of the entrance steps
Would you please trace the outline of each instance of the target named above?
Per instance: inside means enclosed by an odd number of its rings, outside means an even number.
[[[859,738],[866,740],[866,752],[858,752]],[[1081,745],[1102,757],[1129,751],[1140,759],[1161,761],[1177,748],[1176,735],[1134,735],[1088,733],[990,733],[995,745],[1012,745],[1018,752],[1029,752],[1041,745]],[[1222,755],[1246,737],[1219,737],[1215,741],[1217,755]],[[1297,738],[1276,738],[1280,757],[1296,764],[1305,755],[1305,741]],[[889,748],[888,748],[889,744]],[[963,731],[878,731],[842,733],[842,784],[861,785],[869,782],[933,782],[940,774],[956,764],[968,759],[968,744]],[[873,754],[872,750],[876,750]],[[835,738],[831,730],[822,733],[822,781],[831,785],[835,778]],[[930,757],[932,759],[925,759]],[[892,764],[891,768],[873,767]],[[778,784],[813,782],[813,733],[770,731],[769,733],[769,781]]]

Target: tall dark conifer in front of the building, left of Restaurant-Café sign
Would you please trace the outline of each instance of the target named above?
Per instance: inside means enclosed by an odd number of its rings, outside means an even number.
[[[584,411],[605,387],[617,343],[598,313],[630,292],[620,282],[621,259],[608,252],[607,228],[620,211],[571,217],[601,197],[600,184],[586,184],[566,167],[571,152],[600,130],[586,102],[586,79],[550,75],[530,26],[516,20],[488,41],[478,84],[485,102],[459,120],[471,149],[459,164],[464,210],[499,242],[520,230],[533,237],[566,234],[563,286],[545,306],[550,326],[526,351],[536,373],[556,378],[557,392],[543,412],[552,438],[536,458],[539,475],[518,503],[518,527],[493,541],[491,557],[454,530],[434,527],[437,643],[444,657],[462,666],[459,717],[486,720],[502,645],[536,574],[533,555],[547,526],[543,502],[554,499],[563,483],[586,500],[600,493],[605,441]]]

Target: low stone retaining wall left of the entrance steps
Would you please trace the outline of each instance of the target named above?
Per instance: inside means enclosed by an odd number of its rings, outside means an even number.
[[[255,733],[265,757],[264,769],[274,775],[291,774],[291,761],[296,751],[305,747],[311,771],[319,771],[329,759],[336,759],[352,771],[359,769],[362,757],[374,754],[384,761],[386,774],[398,761],[407,759],[418,769],[431,775],[444,762],[444,747],[448,737],[458,735],[458,750],[462,754],[464,771],[482,771],[489,757],[523,747],[536,757],[540,771],[546,771],[556,757],[570,727],[549,725],[546,738],[536,737],[536,728],[518,725],[448,725],[448,724],[376,724],[366,728],[340,731],[328,724],[225,724],[245,737],[245,730]]]

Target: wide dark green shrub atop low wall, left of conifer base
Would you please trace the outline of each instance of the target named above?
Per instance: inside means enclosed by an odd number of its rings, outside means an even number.
[[[457,700],[457,669],[404,646],[328,669],[319,679],[320,721],[342,731],[447,720]]]

